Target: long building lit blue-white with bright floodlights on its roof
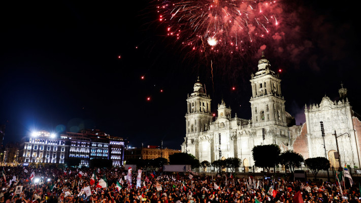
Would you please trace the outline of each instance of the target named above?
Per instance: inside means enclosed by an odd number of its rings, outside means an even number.
[[[110,152],[117,157],[110,156]],[[123,165],[124,142],[100,130],[66,132],[57,137],[48,131],[34,132],[20,146],[19,162],[24,165],[63,164],[66,158],[80,158],[88,165],[92,158],[111,159],[113,166]]]

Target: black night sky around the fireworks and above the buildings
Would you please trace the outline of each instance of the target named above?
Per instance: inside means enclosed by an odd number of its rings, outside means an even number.
[[[189,57],[189,50],[167,38],[152,2],[7,2],[0,6],[4,143],[32,130],[59,134],[87,128],[127,138],[130,146],[163,140],[164,147],[180,149],[186,98],[198,76],[213,112],[223,98],[232,116],[250,119],[249,79],[261,51],[272,70],[282,70],[286,111],[298,125],[305,122],[305,104],[319,104],[324,95],[338,99],[341,82],[361,114],[356,7],[279,4],[284,5],[279,39],[272,36],[274,41],[232,60],[213,56],[213,85],[209,61]]]

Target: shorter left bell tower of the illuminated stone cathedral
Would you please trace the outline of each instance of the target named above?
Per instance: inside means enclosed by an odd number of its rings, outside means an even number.
[[[193,93],[188,94],[186,120],[186,137],[199,135],[209,129],[212,120],[211,98],[205,93],[199,78],[194,83]]]

